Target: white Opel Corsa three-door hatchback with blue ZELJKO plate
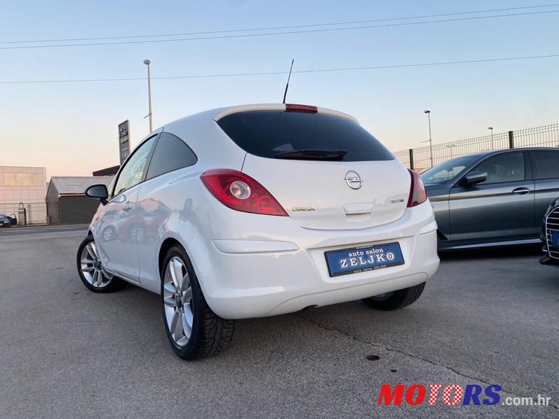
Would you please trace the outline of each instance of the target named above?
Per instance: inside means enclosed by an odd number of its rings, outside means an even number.
[[[363,299],[411,304],[439,266],[419,175],[353,117],[243,105],[167,124],[133,151],[78,249],[89,290],[161,295],[175,353],[222,351],[234,319]]]

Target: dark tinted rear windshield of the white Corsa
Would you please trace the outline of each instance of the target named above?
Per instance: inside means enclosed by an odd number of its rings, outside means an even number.
[[[245,152],[259,157],[274,159],[282,158],[278,154],[301,150],[337,150],[345,152],[337,159],[340,161],[394,159],[356,122],[331,115],[257,110],[227,115],[217,124]],[[305,156],[300,159],[307,160]]]

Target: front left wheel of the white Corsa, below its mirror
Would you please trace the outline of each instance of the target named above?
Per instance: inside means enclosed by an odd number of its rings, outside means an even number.
[[[112,293],[124,285],[124,281],[103,270],[92,235],[88,235],[80,243],[76,256],[78,274],[83,284],[94,293]]]

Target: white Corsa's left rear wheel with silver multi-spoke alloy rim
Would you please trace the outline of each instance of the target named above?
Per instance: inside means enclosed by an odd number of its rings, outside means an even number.
[[[170,345],[184,360],[216,355],[233,339],[235,321],[210,309],[180,246],[169,249],[161,267],[161,310]]]

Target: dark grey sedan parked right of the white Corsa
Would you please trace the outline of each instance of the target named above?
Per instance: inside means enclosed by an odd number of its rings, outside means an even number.
[[[523,148],[458,157],[423,172],[439,249],[539,243],[559,195],[559,149]]]

